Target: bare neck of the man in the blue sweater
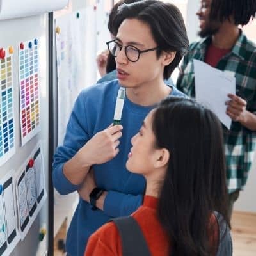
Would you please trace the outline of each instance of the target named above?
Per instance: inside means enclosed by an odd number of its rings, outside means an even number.
[[[131,102],[140,106],[152,106],[167,97],[172,88],[163,83],[145,84],[136,88],[127,88],[126,95]]]

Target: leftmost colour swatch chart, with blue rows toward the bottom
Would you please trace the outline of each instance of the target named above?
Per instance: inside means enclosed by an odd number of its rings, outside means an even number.
[[[12,54],[0,47],[0,166],[15,154],[12,67]]]

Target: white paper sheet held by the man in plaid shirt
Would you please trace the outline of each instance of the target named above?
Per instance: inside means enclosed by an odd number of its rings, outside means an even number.
[[[228,129],[231,126],[231,118],[226,114],[230,100],[228,93],[236,95],[236,78],[229,74],[212,68],[203,61],[193,60],[195,70],[196,100],[210,108]]]

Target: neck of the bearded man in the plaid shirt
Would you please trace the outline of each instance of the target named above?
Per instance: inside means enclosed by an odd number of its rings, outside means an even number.
[[[239,37],[239,28],[229,21],[223,22],[218,32],[212,35],[212,44],[220,49],[232,49]]]

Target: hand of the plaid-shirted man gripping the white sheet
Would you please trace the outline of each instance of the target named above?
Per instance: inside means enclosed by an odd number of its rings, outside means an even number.
[[[227,105],[227,115],[230,116],[233,121],[245,122],[247,102],[234,94],[228,94],[228,98],[230,98],[230,100],[225,102]]]

